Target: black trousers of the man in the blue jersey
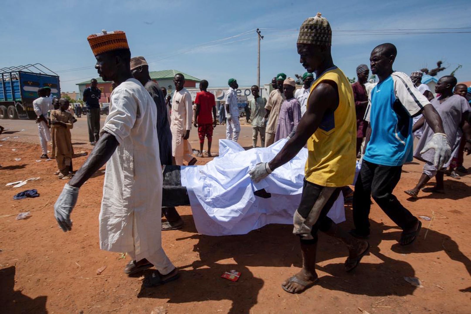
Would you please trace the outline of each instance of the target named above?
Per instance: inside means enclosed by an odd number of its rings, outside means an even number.
[[[399,203],[392,191],[401,178],[402,166],[376,165],[363,161],[353,193],[353,222],[360,235],[370,234],[370,196],[384,213],[402,229],[417,223],[417,218]]]

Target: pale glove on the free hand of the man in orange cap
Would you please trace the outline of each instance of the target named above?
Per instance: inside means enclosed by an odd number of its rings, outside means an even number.
[[[77,198],[79,197],[79,188],[70,186],[65,183],[64,189],[57,198],[54,204],[54,217],[62,231],[67,232],[72,230],[72,221],[70,220],[70,213],[72,212]]]

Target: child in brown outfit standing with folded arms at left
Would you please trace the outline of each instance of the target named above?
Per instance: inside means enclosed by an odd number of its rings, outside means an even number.
[[[58,179],[72,178],[72,137],[70,129],[73,128],[73,116],[67,110],[69,101],[59,99],[59,109],[51,111],[51,129],[54,127],[54,148],[59,171]]]

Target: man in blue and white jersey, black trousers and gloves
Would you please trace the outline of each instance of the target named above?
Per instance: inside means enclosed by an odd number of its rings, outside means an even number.
[[[434,132],[423,151],[434,149],[434,164],[445,164],[451,155],[442,120],[430,101],[418,91],[409,76],[393,71],[397,50],[384,43],[371,52],[371,72],[379,83],[371,91],[365,120],[366,149],[353,195],[354,236],[366,238],[370,234],[370,196],[402,228],[400,245],[414,242],[422,224],[399,203],[392,191],[401,177],[404,163],[412,161],[412,117],[423,114]]]

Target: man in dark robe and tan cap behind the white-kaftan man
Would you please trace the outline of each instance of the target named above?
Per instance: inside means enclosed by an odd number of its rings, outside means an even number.
[[[172,134],[167,116],[167,105],[165,96],[159,84],[152,81],[149,75],[149,66],[144,57],[134,57],[130,60],[132,76],[138,80],[150,94],[157,108],[157,135],[159,140],[159,157],[161,165],[172,165]],[[162,213],[167,218],[167,222],[162,223],[162,230],[181,229],[183,220],[175,207],[162,207]],[[126,271],[125,271],[126,272]]]

